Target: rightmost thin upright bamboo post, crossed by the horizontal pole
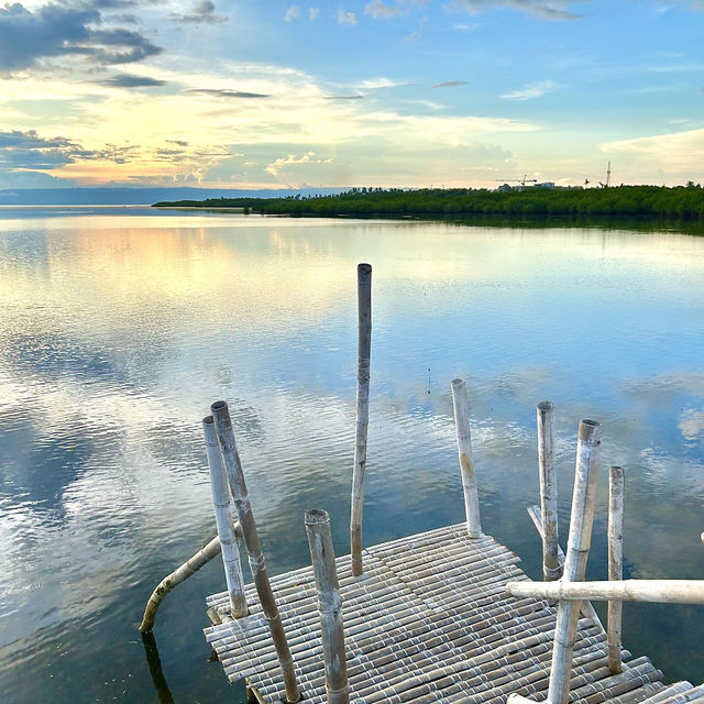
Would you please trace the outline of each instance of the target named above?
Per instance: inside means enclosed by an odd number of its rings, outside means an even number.
[[[624,470],[620,466],[612,466],[608,470],[608,579],[616,582],[624,579]],[[614,674],[623,670],[622,610],[623,602],[608,602],[606,645],[608,669]]]

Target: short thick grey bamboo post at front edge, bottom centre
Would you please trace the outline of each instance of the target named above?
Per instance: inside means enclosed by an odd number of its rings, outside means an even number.
[[[330,516],[320,508],[305,514],[310,560],[318,590],[328,704],[349,704],[348,667],[344,653],[342,598],[334,564]]]

